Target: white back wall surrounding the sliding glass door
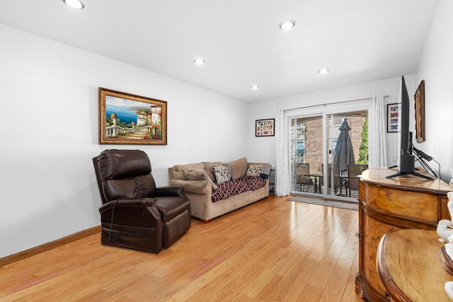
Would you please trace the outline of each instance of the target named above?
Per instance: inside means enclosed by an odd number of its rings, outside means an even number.
[[[326,75],[328,76],[328,74]],[[414,75],[404,75],[409,95],[415,92]],[[251,120],[249,127],[254,127],[255,120],[263,118],[275,118],[277,110],[293,108],[302,108],[311,105],[322,105],[328,103],[343,102],[347,100],[357,100],[361,98],[370,98],[372,95],[389,95],[385,98],[386,104],[398,103],[401,77],[376,81],[372,83],[357,84],[342,88],[318,91],[315,93],[306,93],[294,95],[288,98],[277,100],[268,100],[265,102],[254,103],[251,105]],[[413,102],[413,100],[412,100]],[[411,110],[413,110],[411,106]],[[410,116],[414,116],[411,112]],[[411,129],[415,129],[415,120],[411,120]],[[397,153],[398,134],[388,133],[387,139],[387,161],[389,165],[394,165]],[[249,134],[250,156],[255,156],[258,161],[269,161],[275,165],[275,137],[255,137],[254,133]]]

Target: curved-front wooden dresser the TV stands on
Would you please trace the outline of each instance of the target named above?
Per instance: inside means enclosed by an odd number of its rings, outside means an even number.
[[[397,172],[370,168],[359,176],[359,272],[355,291],[368,301],[389,301],[376,265],[377,246],[384,234],[402,228],[435,230],[440,219],[450,219],[447,192],[453,191],[452,186],[438,178],[386,178]]]

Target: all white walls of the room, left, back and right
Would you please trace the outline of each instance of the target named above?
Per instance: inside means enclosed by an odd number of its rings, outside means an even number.
[[[418,70],[405,75],[409,95],[425,79],[427,137],[418,148],[439,161],[445,181],[453,168],[451,11],[453,3],[441,0]],[[255,137],[254,128],[255,120],[275,118],[278,108],[374,94],[398,102],[399,77],[247,105],[5,25],[0,37],[0,257],[99,224],[91,158],[103,149],[146,151],[157,185],[166,185],[166,169],[176,163],[248,156],[275,165],[275,137]],[[98,145],[100,86],[168,101],[168,145]],[[397,134],[387,140],[391,162]]]

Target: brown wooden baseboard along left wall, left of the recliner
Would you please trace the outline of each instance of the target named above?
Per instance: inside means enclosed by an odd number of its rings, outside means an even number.
[[[43,245],[38,245],[35,248],[30,248],[28,250],[23,250],[22,252],[17,252],[16,254],[0,258],[0,267],[3,267],[4,265],[9,265],[10,263],[16,262],[18,260],[23,260],[33,255],[38,255],[41,252],[47,252],[47,250],[52,250],[67,243],[71,243],[76,240],[86,238],[88,236],[95,235],[98,233],[101,233],[101,226],[93,226],[93,228],[88,228],[79,233],[59,238],[57,240],[51,241],[50,243],[45,243]]]

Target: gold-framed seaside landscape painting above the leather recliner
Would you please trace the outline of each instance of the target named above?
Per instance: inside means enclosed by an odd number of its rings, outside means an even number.
[[[99,144],[167,144],[167,102],[98,88]]]

